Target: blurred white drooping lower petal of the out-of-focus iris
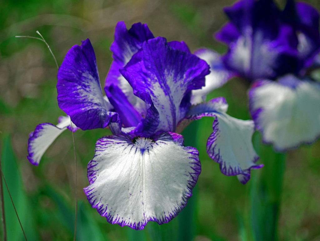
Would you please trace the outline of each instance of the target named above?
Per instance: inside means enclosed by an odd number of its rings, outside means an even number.
[[[249,108],[263,141],[277,151],[312,143],[320,136],[320,84],[286,75],[249,90]]]

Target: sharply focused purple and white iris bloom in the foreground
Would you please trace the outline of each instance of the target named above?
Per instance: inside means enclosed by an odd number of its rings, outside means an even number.
[[[223,174],[245,184],[250,169],[262,166],[255,164],[253,121],[228,116],[224,98],[191,105],[192,91],[205,85],[210,71],[184,42],[155,38],[146,24],[127,30],[119,22],[111,50],[107,97],[89,39],[68,51],[58,71],[57,99],[70,117],[57,126],[37,126],[29,139],[31,163],[39,163],[71,120],[82,130],[108,126],[113,135],[96,142],[84,192],[108,222],[134,229],[170,221],[191,197],[201,171],[199,155],[176,132],[192,120],[214,117],[207,151]]]

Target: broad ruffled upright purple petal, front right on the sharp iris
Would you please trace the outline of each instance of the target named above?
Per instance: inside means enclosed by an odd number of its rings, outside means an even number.
[[[190,53],[170,47],[157,37],[144,42],[120,72],[134,89],[134,94],[159,113],[156,131],[174,131],[190,106],[190,91],[204,86],[209,65]]]

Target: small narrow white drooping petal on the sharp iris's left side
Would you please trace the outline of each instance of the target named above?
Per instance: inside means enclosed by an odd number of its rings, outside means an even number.
[[[28,140],[28,160],[33,165],[39,165],[41,157],[49,148],[52,142],[67,128],[71,131],[70,116],[60,116],[58,125],[51,123],[42,123],[36,126],[36,129],[29,134]],[[75,132],[79,127],[72,123],[72,130]]]

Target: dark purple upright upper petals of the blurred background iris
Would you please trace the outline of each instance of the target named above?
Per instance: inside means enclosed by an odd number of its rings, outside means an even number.
[[[279,10],[271,0],[241,0],[224,8],[229,18],[215,38],[228,45],[228,70],[254,81],[303,74],[320,51],[319,14],[288,0]]]

